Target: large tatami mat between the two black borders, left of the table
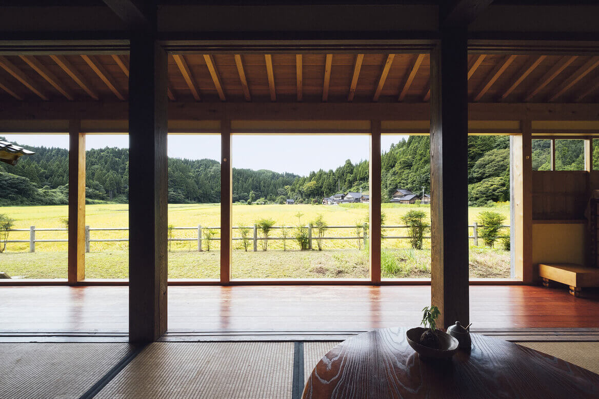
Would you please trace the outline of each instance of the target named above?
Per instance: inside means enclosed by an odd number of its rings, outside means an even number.
[[[293,342],[158,342],[96,398],[291,398],[293,362]]]

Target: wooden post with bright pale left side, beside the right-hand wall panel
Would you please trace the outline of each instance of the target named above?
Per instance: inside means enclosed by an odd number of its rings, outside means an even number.
[[[514,276],[533,283],[533,137],[528,119],[521,120],[521,135],[513,141]]]

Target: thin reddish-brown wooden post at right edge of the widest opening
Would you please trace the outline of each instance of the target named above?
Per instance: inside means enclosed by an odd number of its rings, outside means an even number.
[[[370,281],[380,283],[380,120],[370,121]]]

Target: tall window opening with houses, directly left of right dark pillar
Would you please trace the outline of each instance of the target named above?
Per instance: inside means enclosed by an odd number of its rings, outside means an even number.
[[[430,148],[428,136],[381,137],[383,279],[431,277]]]

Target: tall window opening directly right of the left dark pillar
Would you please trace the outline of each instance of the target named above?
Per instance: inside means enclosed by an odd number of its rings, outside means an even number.
[[[168,135],[168,277],[220,277],[220,135]]]

